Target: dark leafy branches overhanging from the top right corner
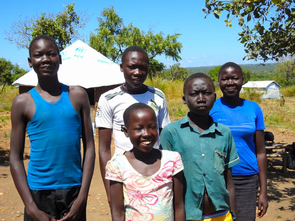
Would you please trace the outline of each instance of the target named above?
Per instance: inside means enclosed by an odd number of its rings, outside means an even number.
[[[206,16],[213,14],[219,19],[227,11],[225,25],[232,27],[232,20],[238,18],[242,32],[240,42],[245,46],[243,58],[276,61],[287,54],[295,54],[295,8],[294,0],[206,0]],[[205,16],[205,18],[206,18]],[[254,27],[244,24],[254,20]]]

